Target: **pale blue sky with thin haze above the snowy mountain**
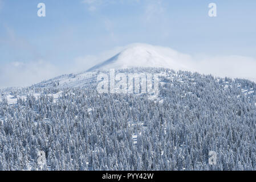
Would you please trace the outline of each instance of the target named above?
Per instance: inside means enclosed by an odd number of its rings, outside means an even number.
[[[37,16],[40,2],[46,5],[43,18]],[[211,2],[217,4],[216,18],[208,16]],[[256,59],[255,33],[254,0],[0,0],[0,84],[27,85],[69,73],[82,57],[131,43]],[[87,59],[83,69],[95,60]],[[37,68],[41,64],[45,73]],[[31,73],[36,79],[19,84],[10,77],[22,71],[24,79]]]

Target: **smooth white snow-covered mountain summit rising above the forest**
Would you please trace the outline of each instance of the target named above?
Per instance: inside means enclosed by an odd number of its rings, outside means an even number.
[[[132,44],[115,56],[88,69],[88,72],[96,69],[123,69],[136,67],[154,67],[187,69],[186,61],[190,56],[184,55],[173,49],[151,46],[149,44]]]

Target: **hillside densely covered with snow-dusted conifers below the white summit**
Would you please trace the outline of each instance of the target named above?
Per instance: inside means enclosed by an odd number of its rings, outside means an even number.
[[[159,97],[99,94],[94,79],[1,90],[0,170],[39,169],[39,151],[46,170],[256,170],[254,82],[160,68],[117,72],[159,73]]]

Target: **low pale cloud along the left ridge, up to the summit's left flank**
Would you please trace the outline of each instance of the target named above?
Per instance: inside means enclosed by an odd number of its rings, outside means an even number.
[[[78,73],[86,71],[95,64],[104,61],[124,47],[116,47],[110,51],[102,52],[98,55],[86,55],[76,57],[71,67],[67,69],[59,68],[46,60],[35,61],[13,61],[2,64],[0,67],[0,88],[9,86],[30,86],[43,80],[59,76],[63,73]]]

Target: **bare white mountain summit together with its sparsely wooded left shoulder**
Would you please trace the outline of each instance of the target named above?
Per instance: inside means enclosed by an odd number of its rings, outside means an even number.
[[[90,85],[96,82],[97,71],[109,71],[109,69],[127,68],[170,68],[174,70],[189,70],[186,62],[190,57],[170,48],[151,46],[149,44],[132,44],[115,56],[97,64],[87,72],[62,75],[47,81],[42,81],[33,86],[58,86],[77,87]]]

